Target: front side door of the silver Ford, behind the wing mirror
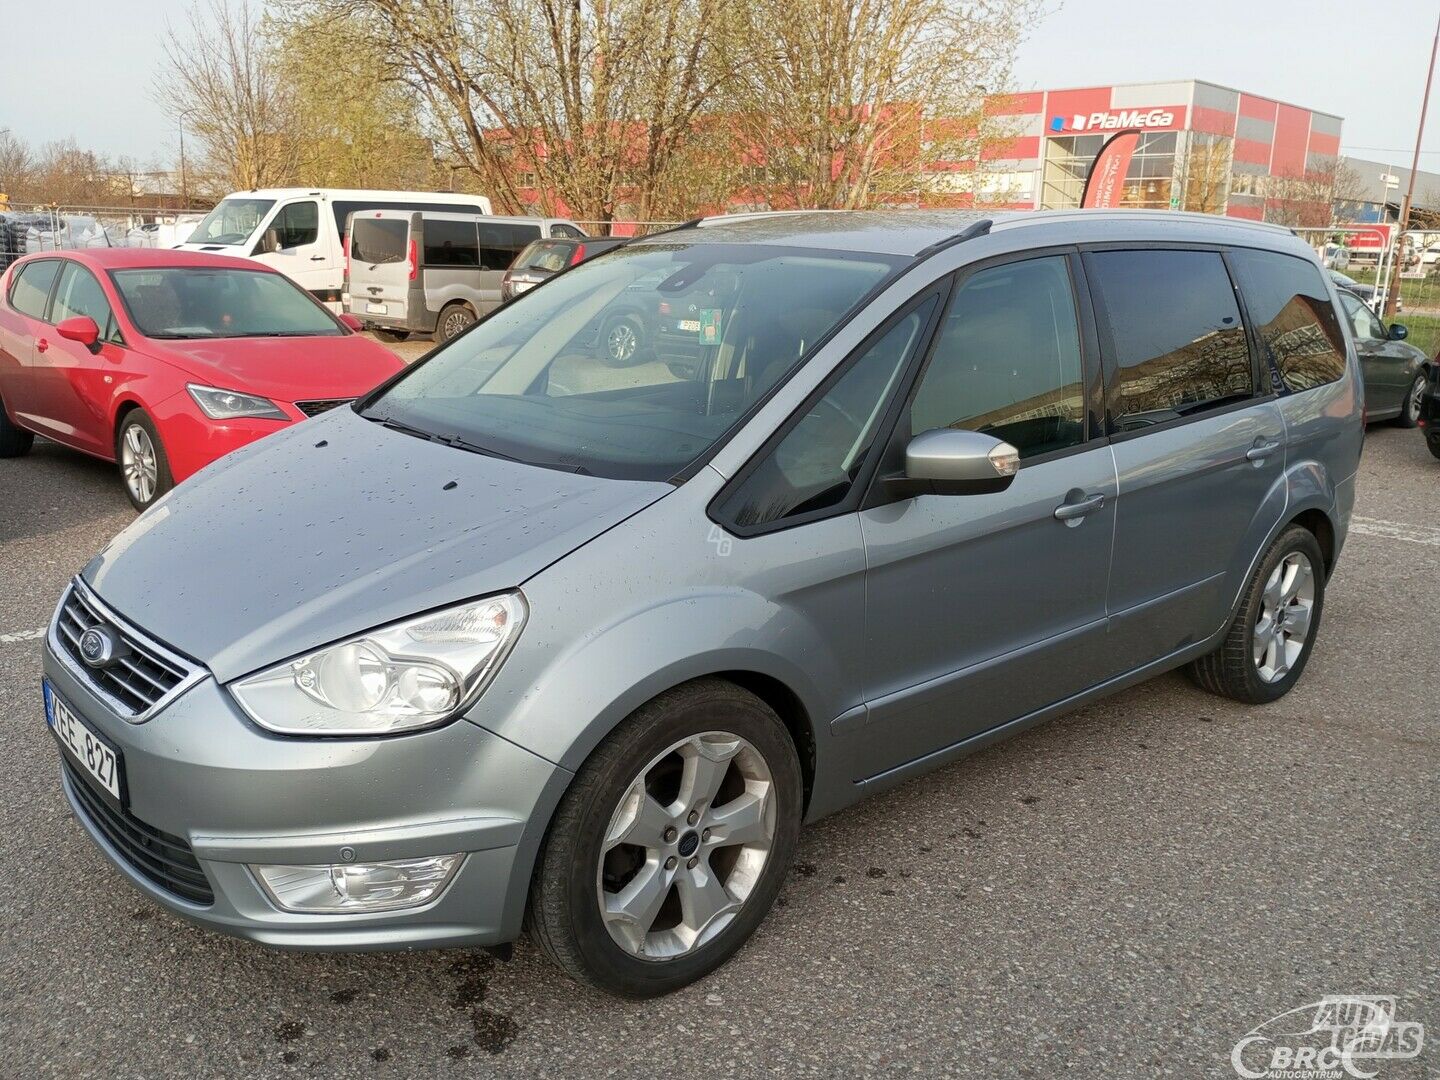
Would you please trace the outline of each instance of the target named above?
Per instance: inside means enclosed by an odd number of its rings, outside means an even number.
[[[871,505],[867,779],[1093,685],[1104,665],[1115,465],[1090,429],[1073,256],[986,266],[956,288],[893,446],[981,431],[1011,487]],[[1089,373],[1089,374],[1087,374]]]

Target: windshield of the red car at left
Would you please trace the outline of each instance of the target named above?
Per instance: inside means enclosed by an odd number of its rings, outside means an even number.
[[[289,278],[255,269],[117,269],[115,288],[145,337],[320,337],[343,333]]]

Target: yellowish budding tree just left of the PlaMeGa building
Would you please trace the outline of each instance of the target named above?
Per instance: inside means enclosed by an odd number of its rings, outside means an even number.
[[[935,166],[1004,156],[984,98],[1009,76],[1032,0],[753,0],[732,92],[776,202],[852,209]]]

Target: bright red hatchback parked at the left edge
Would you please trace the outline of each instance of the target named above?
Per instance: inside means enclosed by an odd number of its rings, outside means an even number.
[[[403,367],[357,328],[245,259],[30,255],[0,275],[0,458],[43,435],[118,461],[144,510],[216,458]]]

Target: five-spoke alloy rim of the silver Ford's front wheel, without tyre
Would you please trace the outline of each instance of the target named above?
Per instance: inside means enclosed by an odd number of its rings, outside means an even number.
[[[595,873],[600,919],[625,952],[684,956],[736,917],[775,841],[775,779],[727,732],[687,736],[632,780]]]

